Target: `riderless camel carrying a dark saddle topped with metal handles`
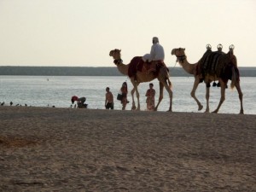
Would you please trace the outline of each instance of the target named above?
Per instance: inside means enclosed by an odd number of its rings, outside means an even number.
[[[200,111],[203,106],[201,102],[195,96],[195,90],[202,81],[207,85],[206,99],[207,108],[206,113],[209,113],[209,97],[210,97],[210,83],[214,81],[213,86],[216,85],[215,81],[218,80],[218,86],[221,87],[221,97],[218,103],[218,107],[212,111],[212,113],[218,113],[219,108],[225,100],[225,89],[229,79],[231,80],[230,87],[233,89],[236,86],[236,90],[240,100],[240,113],[243,113],[242,107],[242,92],[240,87],[239,71],[236,64],[236,55],[233,55],[234,45],[230,45],[230,51],[227,54],[222,52],[222,45],[218,44],[218,51],[212,51],[211,45],[207,44],[207,52],[203,55],[200,61],[195,64],[190,64],[187,61],[184,48],[172,49],[172,55],[176,55],[177,62],[183,67],[183,69],[193,74],[195,82],[190,95],[195,99]],[[213,63],[214,62],[214,63]]]

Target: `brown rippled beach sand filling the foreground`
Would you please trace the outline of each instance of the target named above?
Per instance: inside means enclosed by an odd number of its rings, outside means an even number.
[[[256,115],[0,113],[0,191],[256,191]]]

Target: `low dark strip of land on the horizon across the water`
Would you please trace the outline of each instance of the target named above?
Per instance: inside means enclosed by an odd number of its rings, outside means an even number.
[[[171,77],[189,77],[181,67],[172,67]],[[241,77],[256,77],[256,67],[239,67]],[[0,67],[0,75],[122,76],[117,67]]]

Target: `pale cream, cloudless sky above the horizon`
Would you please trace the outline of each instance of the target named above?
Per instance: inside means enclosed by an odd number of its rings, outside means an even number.
[[[255,0],[0,0],[0,66],[114,67],[149,53],[156,36],[165,62],[185,48],[195,63],[231,44],[239,67],[256,67]]]

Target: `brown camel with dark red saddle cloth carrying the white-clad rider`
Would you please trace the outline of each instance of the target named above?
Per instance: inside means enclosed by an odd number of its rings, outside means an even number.
[[[152,69],[152,64],[149,64],[147,62],[144,62],[142,57],[136,56],[134,57],[131,62],[127,65],[123,64],[123,61],[121,59],[121,50],[120,49],[113,49],[109,52],[110,56],[113,56],[114,64],[118,67],[119,72],[123,73],[124,75],[127,75],[131,79],[131,84],[133,85],[133,88],[131,90],[131,97],[132,97],[132,110],[140,110],[140,100],[139,100],[139,92],[137,90],[137,86],[140,83],[143,82],[149,82],[154,79],[159,80],[160,85],[160,96],[157,105],[154,108],[154,111],[157,111],[158,106],[160,105],[160,102],[163,99],[163,90],[164,87],[166,88],[167,92],[169,93],[170,97],[170,107],[169,110],[172,112],[172,83],[169,79],[169,73],[168,68],[165,64],[156,64],[155,71]],[[134,102],[134,92],[136,91],[137,95],[137,108]]]

